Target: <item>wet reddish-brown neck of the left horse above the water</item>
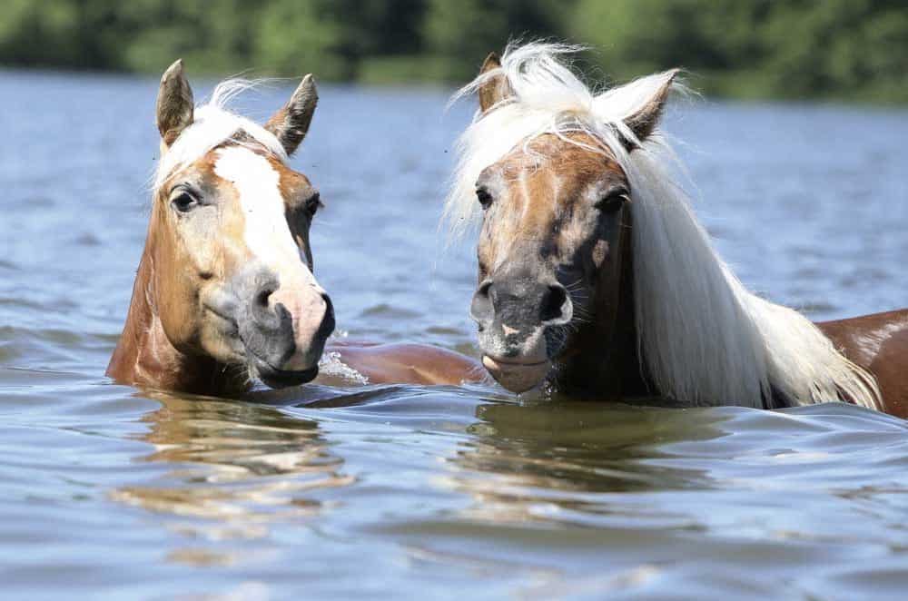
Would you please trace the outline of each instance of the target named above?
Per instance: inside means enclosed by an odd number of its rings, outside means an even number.
[[[152,234],[149,234],[151,240]],[[154,261],[146,243],[133,283],[133,298],[123,333],[117,342],[107,375],[124,384],[192,394],[225,395],[242,392],[248,385],[235,370],[210,357],[173,347],[163,330],[154,290]]]

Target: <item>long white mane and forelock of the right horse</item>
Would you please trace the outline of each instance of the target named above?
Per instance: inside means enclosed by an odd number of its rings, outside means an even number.
[[[630,182],[638,345],[662,394],[692,404],[752,407],[778,395],[795,404],[844,396],[879,409],[880,392],[869,373],[804,316],[760,299],[735,278],[666,169],[676,159],[662,136],[655,132],[639,141],[627,128],[624,119],[648,103],[672,72],[595,93],[560,60],[577,50],[509,45],[499,69],[455,94],[453,101],[499,74],[513,91],[477,113],[459,138],[445,203],[452,234],[478,221],[475,185],[483,169],[540,134],[587,133],[601,144],[591,150],[613,154]],[[637,143],[637,150],[627,153],[619,136]]]

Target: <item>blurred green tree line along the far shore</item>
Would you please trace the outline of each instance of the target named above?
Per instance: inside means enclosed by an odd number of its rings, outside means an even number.
[[[513,37],[587,44],[596,78],[908,102],[904,0],[5,0],[0,64],[459,83]]]

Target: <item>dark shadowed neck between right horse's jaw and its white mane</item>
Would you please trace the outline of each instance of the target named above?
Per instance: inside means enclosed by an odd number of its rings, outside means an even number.
[[[558,366],[558,389],[569,394],[625,398],[649,392],[637,345],[630,222],[623,228],[618,291],[599,291],[594,319],[580,325],[568,359]],[[614,284],[613,284],[614,285]]]

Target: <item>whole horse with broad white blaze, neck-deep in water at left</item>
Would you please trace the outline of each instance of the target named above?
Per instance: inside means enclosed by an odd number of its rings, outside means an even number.
[[[272,388],[314,379],[328,344],[355,369],[355,381],[478,379],[476,361],[449,350],[328,342],[334,312],[313,275],[309,243],[321,196],[288,164],[315,112],[315,82],[303,78],[264,125],[225,108],[249,85],[224,82],[195,107],[183,63],[163,74],[151,220],[107,374],[157,389],[233,395],[255,379]]]

